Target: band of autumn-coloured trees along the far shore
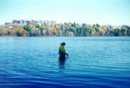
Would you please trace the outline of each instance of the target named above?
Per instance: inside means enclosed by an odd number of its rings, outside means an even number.
[[[75,22],[51,25],[1,25],[0,36],[130,36],[130,26],[100,26]]]

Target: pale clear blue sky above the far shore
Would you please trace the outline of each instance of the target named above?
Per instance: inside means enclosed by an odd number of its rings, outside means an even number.
[[[130,25],[130,0],[0,0],[0,24],[12,20]]]

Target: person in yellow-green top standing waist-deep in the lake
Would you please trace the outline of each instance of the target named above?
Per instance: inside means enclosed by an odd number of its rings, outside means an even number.
[[[65,46],[65,42],[62,42],[59,47],[59,65],[60,66],[64,66],[66,56],[68,58],[68,54],[66,53],[64,46]]]

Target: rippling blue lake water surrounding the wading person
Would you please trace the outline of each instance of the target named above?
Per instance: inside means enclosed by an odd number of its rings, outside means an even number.
[[[130,37],[0,37],[0,88],[57,87],[130,88]]]

